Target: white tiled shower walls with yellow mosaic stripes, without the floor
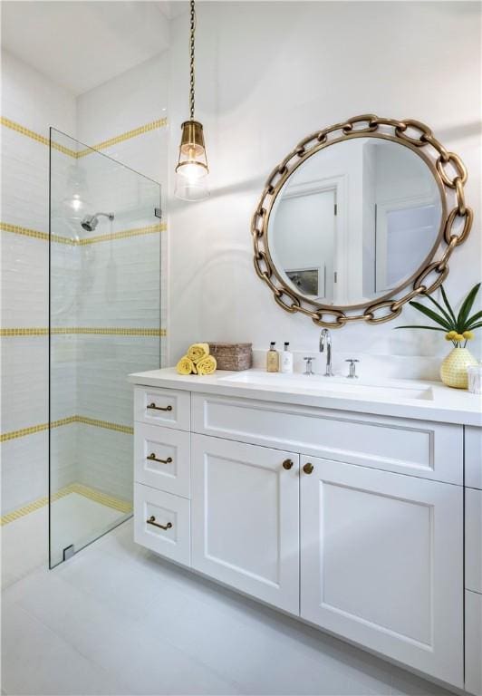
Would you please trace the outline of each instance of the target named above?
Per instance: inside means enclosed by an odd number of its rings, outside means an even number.
[[[165,59],[136,71],[135,82],[146,85],[148,99],[138,102],[144,108],[136,109],[133,100],[126,110],[122,85],[132,82],[131,71],[75,99],[3,54],[4,515],[47,491],[48,126],[79,134],[83,142],[162,182],[167,173]],[[151,78],[158,80],[155,91]],[[76,150],[65,141],[53,153],[57,189],[63,183],[68,188],[72,167],[82,168],[92,185],[92,212],[110,206],[119,212],[121,200],[122,215],[111,226],[101,218],[91,234],[65,225],[63,215],[53,218],[58,242],[52,245],[52,419],[59,420],[52,430],[53,489],[80,483],[129,499],[131,395],[125,377],[159,364],[166,311],[159,324],[154,298],[159,300],[159,248],[165,245],[166,226],[152,211],[149,218],[139,213],[141,187],[130,183],[140,178],[131,175],[122,189],[121,176],[106,177],[95,164],[101,156]]]

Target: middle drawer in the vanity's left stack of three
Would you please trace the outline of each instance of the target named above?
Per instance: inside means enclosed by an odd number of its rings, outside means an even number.
[[[159,425],[136,423],[134,477],[138,483],[189,498],[189,433]]]

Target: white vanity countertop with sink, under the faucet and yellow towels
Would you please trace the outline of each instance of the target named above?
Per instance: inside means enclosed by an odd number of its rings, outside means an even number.
[[[256,382],[256,380],[258,382]],[[306,382],[304,382],[306,381]],[[134,372],[129,382],[149,387],[216,393],[245,399],[294,403],[339,411],[460,423],[482,427],[482,396],[451,389],[442,382],[385,380],[370,382],[315,374],[281,375],[262,370],[209,376],[179,375],[175,368]],[[419,398],[413,398],[420,394]]]

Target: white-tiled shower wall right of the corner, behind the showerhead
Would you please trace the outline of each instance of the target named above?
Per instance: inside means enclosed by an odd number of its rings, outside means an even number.
[[[167,54],[160,54],[78,99],[78,139],[86,143],[103,141],[102,152],[159,181],[162,197],[168,176],[167,92]],[[126,94],[129,99],[126,99]],[[129,134],[136,132],[141,124],[148,125],[140,135],[109,140],[112,132]],[[89,180],[94,190],[98,189],[95,181],[99,180],[102,205],[115,211],[122,200],[124,217],[129,218],[130,185],[125,194],[121,192],[127,179],[120,172],[119,179],[114,181],[111,178],[109,191],[105,191],[101,162],[91,161],[91,169],[97,164],[99,171],[89,171]],[[112,198],[109,198],[109,192]],[[140,196],[138,190],[132,208],[139,207]],[[164,200],[161,208],[165,208]],[[155,222],[152,212],[148,206],[146,218],[135,224],[131,219],[128,227],[152,225]],[[165,223],[164,211],[163,229]],[[159,311],[150,298],[159,296],[160,289],[161,357],[166,364],[166,231],[160,237],[159,234],[143,234],[118,239],[115,247],[110,243],[94,244],[90,251],[90,271],[88,276],[84,276],[86,283],[80,293],[79,324],[88,324],[88,317],[95,314],[102,325],[110,326],[114,321],[114,325],[124,327],[159,328]],[[159,257],[159,251],[160,288],[159,264],[153,263]],[[112,260],[122,268],[121,275],[115,274]],[[106,292],[106,284],[110,287],[109,292]],[[101,302],[102,297],[108,301]],[[159,336],[147,335],[141,339],[127,335],[109,338],[82,336],[78,346],[78,366],[82,374],[78,380],[78,402],[82,414],[93,419],[130,423],[132,391],[125,377],[129,372],[148,370],[156,364]],[[80,480],[101,490],[108,489],[120,498],[129,498],[132,487],[131,435],[96,429],[91,437],[89,429],[81,427],[79,438],[79,450],[82,451]],[[110,488],[106,488],[107,484]]]

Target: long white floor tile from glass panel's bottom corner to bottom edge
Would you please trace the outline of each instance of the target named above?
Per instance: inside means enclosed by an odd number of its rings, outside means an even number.
[[[57,571],[37,572],[12,587],[7,603],[17,602],[61,641],[73,645],[89,661],[115,675],[130,694],[231,694],[234,684],[124,614],[63,580]]]

